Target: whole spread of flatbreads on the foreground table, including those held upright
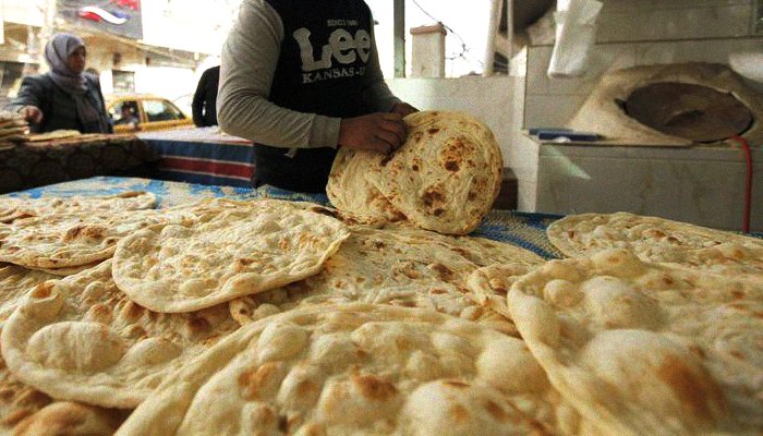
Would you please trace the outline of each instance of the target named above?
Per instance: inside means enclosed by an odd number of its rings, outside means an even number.
[[[0,199],[0,434],[760,434],[763,241],[629,214],[555,222],[566,259],[453,235],[499,177],[474,125],[425,130],[456,166],[401,158],[415,135],[338,160],[354,208]]]

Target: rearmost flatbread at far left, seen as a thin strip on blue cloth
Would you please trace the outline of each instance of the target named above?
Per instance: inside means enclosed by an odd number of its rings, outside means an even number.
[[[156,207],[156,195],[150,192],[130,191],[117,195],[72,197],[3,198],[0,205],[0,222],[50,215],[78,214],[86,210],[138,210]]]

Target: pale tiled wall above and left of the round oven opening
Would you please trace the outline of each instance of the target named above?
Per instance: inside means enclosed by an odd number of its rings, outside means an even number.
[[[689,61],[728,63],[735,51],[763,50],[755,0],[603,0],[596,46],[583,77],[546,75],[552,46],[528,50],[524,126],[561,126],[609,70]]]

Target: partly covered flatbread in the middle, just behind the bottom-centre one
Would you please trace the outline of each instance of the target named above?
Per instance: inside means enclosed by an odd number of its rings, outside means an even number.
[[[510,322],[474,304],[467,288],[476,268],[514,261],[543,262],[524,249],[482,238],[354,226],[317,275],[234,300],[231,314],[246,324],[298,305],[363,302],[427,308],[516,335]]]

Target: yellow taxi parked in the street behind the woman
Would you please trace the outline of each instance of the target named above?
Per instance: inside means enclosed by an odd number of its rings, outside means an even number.
[[[106,97],[106,111],[114,133],[193,126],[193,119],[172,101],[148,94]]]

